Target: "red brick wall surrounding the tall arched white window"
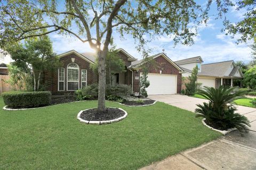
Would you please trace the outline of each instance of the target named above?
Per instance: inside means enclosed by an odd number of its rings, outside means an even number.
[[[62,62],[62,67],[65,68],[65,91],[58,91],[58,70],[51,73],[49,71],[44,73],[43,82],[45,83],[46,90],[52,91],[54,95],[65,94],[67,91],[67,66],[72,63],[71,58],[75,58],[75,62],[79,66],[79,87],[81,87],[81,70],[87,70],[87,85],[97,83],[98,75],[95,74],[92,69],[90,69],[90,63],[85,61],[83,58],[78,57],[75,54],[70,54],[60,58]]]

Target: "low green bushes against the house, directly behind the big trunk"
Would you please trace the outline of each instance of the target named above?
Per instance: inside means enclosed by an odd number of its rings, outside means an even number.
[[[83,89],[79,89],[75,92],[77,100],[92,100],[98,98],[98,84],[92,84]],[[116,84],[106,86],[106,99],[108,100],[118,100],[123,96],[131,94],[131,87],[125,84]]]

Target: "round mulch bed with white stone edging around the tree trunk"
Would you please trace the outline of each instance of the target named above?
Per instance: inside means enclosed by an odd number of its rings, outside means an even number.
[[[80,111],[77,119],[86,124],[108,124],[123,120],[127,112],[122,108],[107,107],[106,113],[98,113],[97,108]]]

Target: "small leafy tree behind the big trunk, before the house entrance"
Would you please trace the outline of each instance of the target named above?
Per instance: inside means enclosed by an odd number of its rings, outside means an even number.
[[[99,60],[91,64],[90,67],[94,72],[98,73]],[[111,77],[116,73],[125,72],[125,63],[122,58],[119,57],[117,50],[109,50],[106,56],[106,83],[111,84]]]

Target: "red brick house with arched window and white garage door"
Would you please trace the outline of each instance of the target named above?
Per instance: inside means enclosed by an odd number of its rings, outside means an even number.
[[[133,93],[140,90],[140,65],[143,60],[137,60],[124,49],[117,50],[119,57],[125,62],[126,72],[113,76],[113,83],[127,84],[132,87]],[[92,53],[78,53],[75,50],[59,55],[62,67],[56,72],[44,72],[43,84],[46,90],[53,95],[63,95],[74,92],[89,84],[98,83],[98,75],[90,68],[95,62]],[[164,53],[159,53],[151,58],[157,66],[149,65],[147,88],[149,95],[177,94],[181,90],[181,74],[183,70]]]

